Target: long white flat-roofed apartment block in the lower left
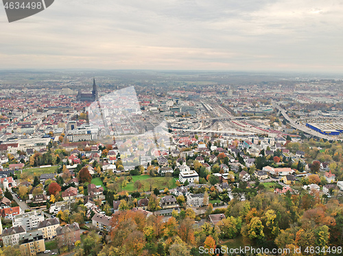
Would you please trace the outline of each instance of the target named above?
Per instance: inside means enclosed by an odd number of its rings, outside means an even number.
[[[13,217],[13,227],[20,227],[28,231],[36,229],[39,222],[44,220],[44,214],[41,211],[26,212],[24,214],[18,214]]]

